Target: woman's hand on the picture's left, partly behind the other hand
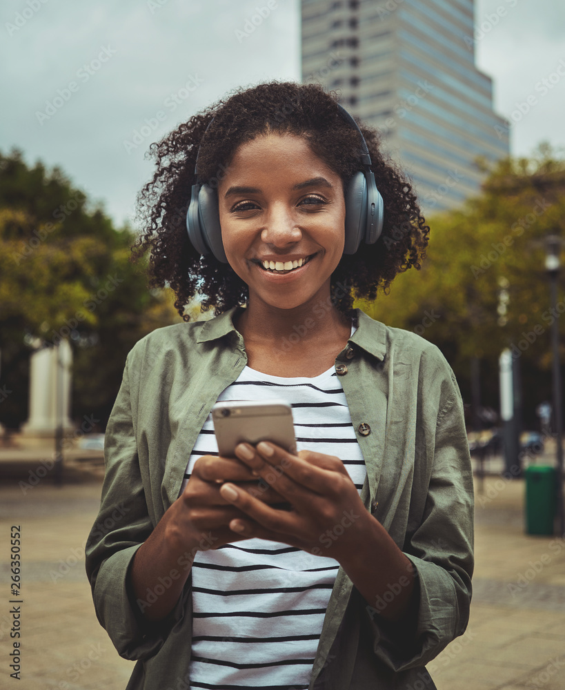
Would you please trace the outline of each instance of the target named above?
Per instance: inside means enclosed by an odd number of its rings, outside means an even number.
[[[221,483],[234,482],[239,491],[269,504],[284,498],[235,457],[203,455],[195,466],[183,493],[170,506],[166,516],[166,537],[177,548],[216,549],[228,542],[241,541],[228,524],[245,513],[230,504],[220,493]]]

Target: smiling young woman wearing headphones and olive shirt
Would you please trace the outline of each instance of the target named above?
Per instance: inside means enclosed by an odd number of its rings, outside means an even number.
[[[314,85],[239,90],[152,154],[137,253],[216,316],[133,348],[106,432],[87,571],[128,688],[435,687],[470,603],[462,402],[435,346],[353,309],[419,268],[410,185]],[[213,404],[272,397],[297,455],[219,457]]]

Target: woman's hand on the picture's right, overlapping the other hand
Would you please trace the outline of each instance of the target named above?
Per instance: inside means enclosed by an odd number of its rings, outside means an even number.
[[[230,529],[244,538],[284,542],[340,563],[352,558],[362,544],[364,526],[373,518],[339,457],[313,451],[293,455],[266,442],[257,448],[239,444],[235,453],[250,470],[275,486],[292,510],[274,509],[228,482],[221,486],[220,495],[246,515],[230,520]],[[347,538],[342,538],[344,534]]]

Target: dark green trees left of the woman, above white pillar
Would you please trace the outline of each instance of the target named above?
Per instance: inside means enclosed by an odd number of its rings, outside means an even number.
[[[17,150],[0,153],[1,374],[11,391],[0,406],[5,426],[28,417],[33,348],[68,337],[72,417],[93,415],[103,429],[130,348],[179,320],[171,295],[149,291],[143,266],[130,263],[134,240],[57,168],[29,168]]]

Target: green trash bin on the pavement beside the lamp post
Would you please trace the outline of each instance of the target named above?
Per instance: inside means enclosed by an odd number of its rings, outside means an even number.
[[[533,465],[526,469],[526,533],[553,534],[557,478],[555,469]]]

